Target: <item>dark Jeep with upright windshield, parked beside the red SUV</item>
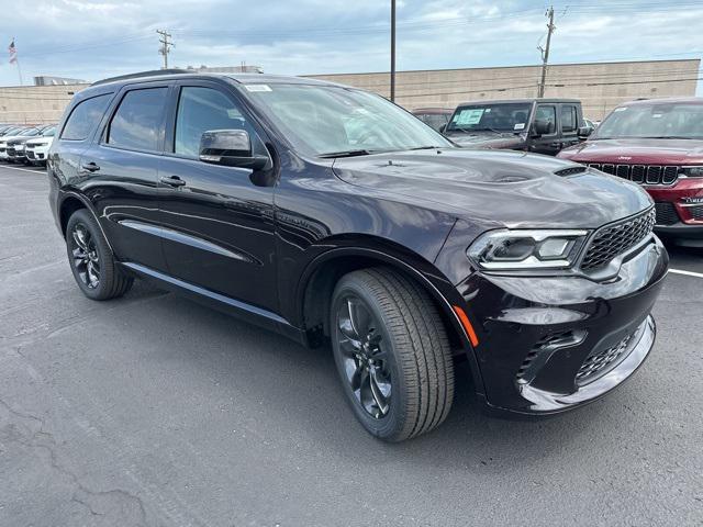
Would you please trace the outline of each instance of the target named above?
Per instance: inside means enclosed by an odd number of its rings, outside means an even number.
[[[513,99],[465,102],[457,106],[444,134],[465,148],[525,150],[556,156],[584,139],[581,101]]]

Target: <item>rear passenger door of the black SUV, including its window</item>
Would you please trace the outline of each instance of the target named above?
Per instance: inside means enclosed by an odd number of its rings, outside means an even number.
[[[166,270],[158,225],[158,160],[164,145],[168,82],[121,90],[101,134],[80,159],[86,195],[122,261]]]

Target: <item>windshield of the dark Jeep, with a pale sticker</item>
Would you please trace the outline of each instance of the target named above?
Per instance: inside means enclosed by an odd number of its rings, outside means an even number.
[[[529,103],[470,104],[457,108],[447,132],[522,132],[527,127]]]

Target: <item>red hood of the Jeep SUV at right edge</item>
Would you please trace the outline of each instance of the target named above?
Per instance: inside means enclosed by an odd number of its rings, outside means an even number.
[[[703,141],[589,139],[561,150],[559,157],[584,162],[702,165]]]

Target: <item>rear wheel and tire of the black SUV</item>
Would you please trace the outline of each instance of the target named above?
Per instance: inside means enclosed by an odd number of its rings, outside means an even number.
[[[134,279],[121,271],[93,215],[79,209],[66,226],[66,251],[76,283],[92,300],[126,293]]]

